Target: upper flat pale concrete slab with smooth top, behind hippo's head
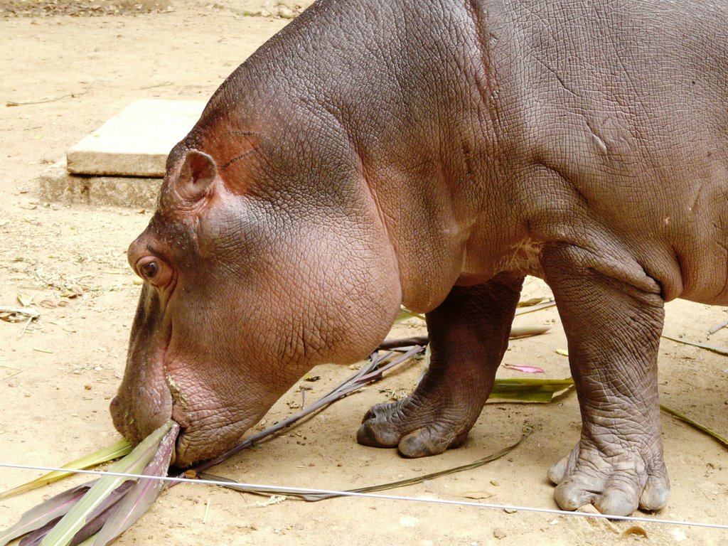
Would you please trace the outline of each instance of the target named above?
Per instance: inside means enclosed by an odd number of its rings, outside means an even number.
[[[164,176],[167,154],[203,108],[202,100],[136,100],[68,149],[68,172]]]

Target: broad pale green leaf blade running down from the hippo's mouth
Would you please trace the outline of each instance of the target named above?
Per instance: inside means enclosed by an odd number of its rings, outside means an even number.
[[[179,427],[179,425],[171,420],[167,421],[147,436],[124,459],[114,463],[108,471],[128,474],[138,474],[143,471],[146,465],[151,462],[151,459],[154,458],[154,455],[157,454],[159,442],[172,427]],[[76,505],[58,522],[58,525],[46,535],[43,542],[41,542],[41,546],[67,546],[74,538],[74,535],[85,525],[87,518],[95,507],[100,505],[103,499],[109,496],[114,489],[129,479],[116,475],[105,475],[103,478],[99,478],[87,494],[79,502],[76,502]]]

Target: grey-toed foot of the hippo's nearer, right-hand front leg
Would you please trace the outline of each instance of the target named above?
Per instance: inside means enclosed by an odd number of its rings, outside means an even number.
[[[548,478],[557,485],[556,502],[563,510],[592,504],[612,515],[630,515],[638,507],[660,510],[668,502],[670,481],[662,454],[645,451],[606,456],[582,440],[548,471]]]

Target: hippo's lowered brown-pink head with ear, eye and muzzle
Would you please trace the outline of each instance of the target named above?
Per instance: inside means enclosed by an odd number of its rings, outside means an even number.
[[[173,417],[179,466],[231,448],[312,366],[368,355],[400,305],[357,168],[289,144],[193,131],[129,248],[144,284],[111,414],[134,443]]]

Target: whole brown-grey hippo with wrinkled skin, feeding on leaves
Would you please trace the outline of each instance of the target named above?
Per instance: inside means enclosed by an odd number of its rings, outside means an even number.
[[[549,477],[573,510],[668,499],[663,303],[728,304],[728,4],[321,0],[237,68],[170,154],[131,245],[146,278],[112,403],[169,418],[187,465],[313,365],[352,363],[400,303],[430,371],[360,443],[459,446],[526,274],[553,289],[582,413]]]

